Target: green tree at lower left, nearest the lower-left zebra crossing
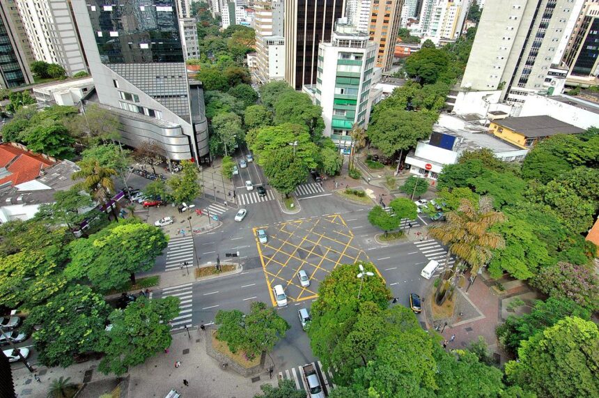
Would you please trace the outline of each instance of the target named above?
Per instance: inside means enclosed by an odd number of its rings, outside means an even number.
[[[119,376],[169,348],[173,340],[169,322],[178,316],[179,302],[176,297],[138,297],[125,309],[115,309],[109,316],[111,328],[98,344],[104,353],[100,372]]]

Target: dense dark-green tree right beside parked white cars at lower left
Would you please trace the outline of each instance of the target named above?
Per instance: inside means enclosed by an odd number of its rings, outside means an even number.
[[[33,332],[38,360],[47,367],[68,367],[75,356],[95,351],[110,307],[88,286],[71,286],[31,310],[24,330]]]

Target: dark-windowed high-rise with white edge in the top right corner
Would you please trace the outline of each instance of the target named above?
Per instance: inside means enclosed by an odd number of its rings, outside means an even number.
[[[563,56],[569,74],[599,75],[599,0],[586,0]]]

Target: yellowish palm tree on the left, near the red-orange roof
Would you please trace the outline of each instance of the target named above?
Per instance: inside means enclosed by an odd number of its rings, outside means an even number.
[[[100,162],[95,159],[81,160],[81,162],[77,162],[77,166],[79,166],[80,170],[75,171],[71,176],[73,180],[83,178],[83,181],[78,183],[77,186],[91,194],[95,199],[98,199],[102,205],[108,204],[111,199],[110,192],[114,192],[112,176],[116,176],[116,171],[100,166]],[[111,206],[111,210],[114,220],[118,222],[116,208]]]

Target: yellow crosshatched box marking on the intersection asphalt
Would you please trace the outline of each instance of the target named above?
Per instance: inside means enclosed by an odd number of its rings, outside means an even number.
[[[322,280],[339,264],[368,261],[364,250],[341,215],[327,215],[280,222],[254,228],[263,229],[266,243],[256,238],[272,305],[276,305],[273,286],[283,285],[288,301],[316,298]],[[304,270],[310,285],[302,286],[297,273]]]

